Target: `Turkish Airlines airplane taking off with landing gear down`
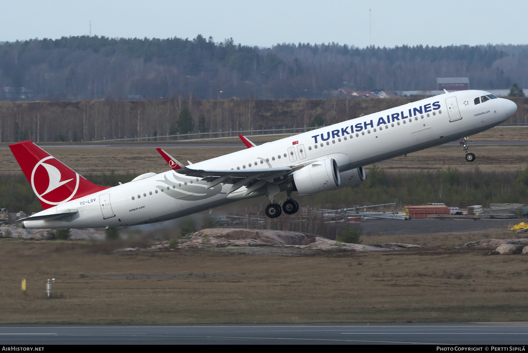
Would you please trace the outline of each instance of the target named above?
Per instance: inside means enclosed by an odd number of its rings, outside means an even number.
[[[266,215],[294,214],[291,193],[312,195],[361,183],[363,166],[459,140],[510,118],[517,106],[485,91],[458,91],[187,166],[157,150],[172,170],[114,187],[92,184],[31,141],[10,146],[44,211],[25,228],[98,228],[162,222],[241,199],[265,196]],[[279,206],[274,197],[287,193]]]

